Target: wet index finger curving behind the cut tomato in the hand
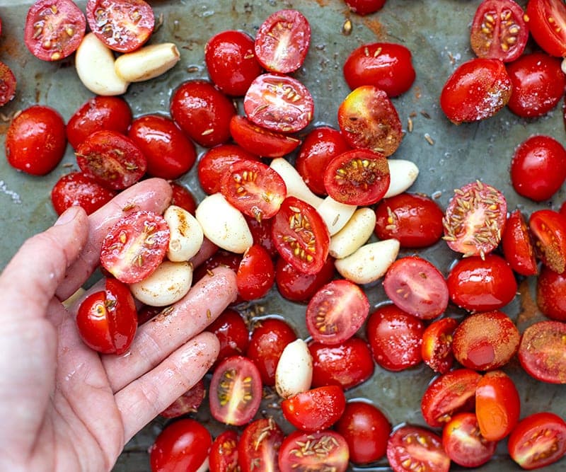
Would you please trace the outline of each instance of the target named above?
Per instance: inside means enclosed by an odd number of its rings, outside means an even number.
[[[57,289],[57,297],[71,296],[96,269],[100,246],[110,228],[130,212],[150,210],[163,213],[171,201],[171,185],[160,178],[149,178],[132,185],[88,217],[88,241],[79,260],[74,263]]]

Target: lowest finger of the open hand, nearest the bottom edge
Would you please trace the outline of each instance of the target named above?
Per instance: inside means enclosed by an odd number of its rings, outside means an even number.
[[[218,356],[219,348],[214,334],[201,333],[118,391],[115,400],[122,415],[124,442],[202,379]]]

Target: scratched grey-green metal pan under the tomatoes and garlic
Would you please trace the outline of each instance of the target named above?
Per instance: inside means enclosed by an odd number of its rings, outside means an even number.
[[[79,3],[84,7],[84,1]],[[539,207],[558,207],[565,200],[562,188],[555,198],[541,205],[516,195],[509,183],[509,162],[514,148],[531,134],[550,134],[565,142],[562,116],[559,110],[538,120],[522,120],[508,110],[502,110],[490,120],[480,123],[452,125],[439,109],[438,97],[446,78],[458,64],[472,57],[468,45],[468,29],[479,0],[388,0],[382,11],[365,18],[351,14],[340,0],[161,0],[151,2],[161,26],[152,41],[175,42],[181,52],[180,63],[168,74],[144,84],[130,86],[125,98],[134,115],[168,111],[171,91],[182,81],[207,76],[204,68],[204,44],[214,33],[226,29],[244,30],[255,34],[258,26],[272,12],[281,8],[297,8],[308,18],[312,27],[311,47],[304,67],[295,75],[311,90],[316,108],[312,125],[336,126],[338,105],[348,93],[342,77],[342,64],[355,47],[364,42],[400,42],[410,48],[417,79],[410,91],[394,103],[401,120],[407,123],[413,116],[413,127],[393,157],[417,163],[420,175],[412,191],[437,197],[441,207],[451,191],[471,180],[480,179],[504,192],[509,209],[521,208],[531,212]],[[524,0],[521,3],[525,3]],[[31,1],[0,0],[3,22],[0,38],[0,60],[6,62],[18,79],[16,99],[0,110],[1,144],[9,117],[29,105],[50,105],[68,120],[91,93],[76,77],[73,60],[47,64],[33,57],[23,45],[25,13]],[[343,25],[350,18],[350,35]],[[428,139],[425,139],[427,137]],[[3,149],[3,146],[2,148]],[[202,149],[200,150],[202,152]],[[292,159],[292,158],[291,158]],[[6,265],[24,238],[45,229],[54,221],[50,190],[63,174],[76,169],[69,147],[62,163],[49,175],[41,178],[13,170],[0,159],[0,267]],[[195,169],[185,175],[183,183],[202,198]],[[446,274],[456,255],[444,243],[422,251],[422,256],[436,263]],[[365,287],[371,304],[386,299],[381,284]],[[533,280],[520,283],[519,294],[505,308],[520,330],[542,318],[536,310]],[[283,316],[297,332],[307,337],[304,326],[304,306],[284,301],[275,289],[258,304],[264,315]],[[258,306],[242,306],[243,310],[259,312]],[[449,314],[458,310],[449,308]],[[521,415],[550,410],[566,417],[566,386],[541,384],[529,378],[514,359],[505,369],[516,381],[521,393]],[[420,397],[432,372],[417,367],[406,372],[391,373],[376,367],[374,376],[362,386],[347,392],[348,398],[369,398],[391,420],[393,425],[411,422],[424,425],[420,414]],[[263,414],[281,418],[279,410],[265,403]],[[217,433],[221,426],[210,419],[207,410],[198,418]],[[282,421],[281,421],[282,423]],[[115,466],[115,471],[148,471],[146,450],[163,427],[157,419],[132,439]],[[387,470],[381,461],[368,471]],[[566,468],[566,459],[549,467],[549,471]],[[499,444],[495,458],[478,470],[520,470],[506,454],[506,444]]]

